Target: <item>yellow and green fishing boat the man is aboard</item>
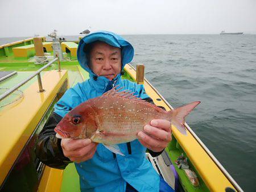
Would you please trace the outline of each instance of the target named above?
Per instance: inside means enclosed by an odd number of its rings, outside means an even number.
[[[42,41],[42,57],[34,57],[38,41]],[[0,191],[80,191],[73,163],[65,170],[53,169],[34,151],[53,105],[69,87],[89,78],[76,59],[79,39],[61,41],[63,57],[55,55],[55,43],[34,37],[0,46]],[[144,84],[155,105],[172,110],[144,78],[143,70],[143,65],[135,69],[126,64],[122,78]],[[187,136],[172,126],[172,141],[162,155],[146,154],[156,172],[175,191],[242,191],[187,123],[185,127]],[[188,162],[192,178],[176,164],[181,157]]]

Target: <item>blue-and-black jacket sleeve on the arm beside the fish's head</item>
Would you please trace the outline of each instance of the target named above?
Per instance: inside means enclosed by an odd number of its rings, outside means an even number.
[[[36,156],[44,164],[56,168],[65,169],[72,161],[65,157],[61,148],[61,139],[57,139],[54,128],[60,122],[63,116],[72,110],[73,107],[81,103],[81,98],[75,89],[68,89],[63,97],[55,104],[55,110],[49,116],[43,130],[39,133],[35,148]]]

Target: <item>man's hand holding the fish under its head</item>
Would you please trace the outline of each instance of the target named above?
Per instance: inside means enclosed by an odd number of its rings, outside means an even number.
[[[61,139],[64,156],[77,163],[92,158],[97,145],[98,143],[92,143],[90,139]]]

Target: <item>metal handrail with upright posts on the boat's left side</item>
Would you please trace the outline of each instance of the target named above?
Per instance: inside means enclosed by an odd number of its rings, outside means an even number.
[[[6,91],[2,95],[0,95],[0,101],[2,101],[4,98],[6,98],[11,93],[13,93],[15,90],[19,89],[20,86],[26,84],[26,82],[30,81],[35,76],[38,76],[39,92],[43,92],[44,89],[43,89],[43,84],[42,84],[40,72],[42,72],[42,70],[46,69],[49,65],[51,65],[53,62],[55,62],[57,60],[58,60],[59,71],[60,71],[60,60],[59,60],[58,57],[56,57],[55,59],[49,61],[48,64],[44,65],[42,68],[38,69],[35,73],[31,74],[30,77],[26,78],[26,80],[20,82],[18,85],[14,86],[13,88],[9,89],[8,91]]]

